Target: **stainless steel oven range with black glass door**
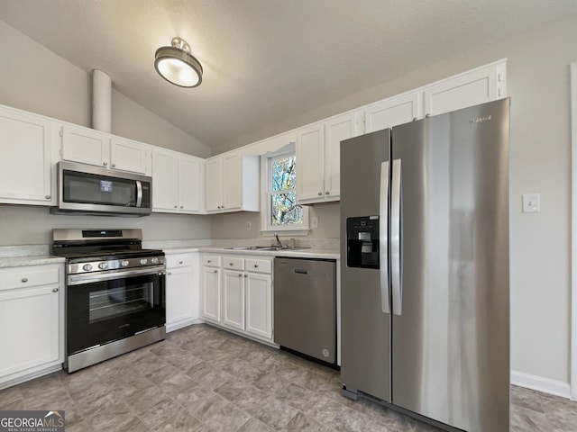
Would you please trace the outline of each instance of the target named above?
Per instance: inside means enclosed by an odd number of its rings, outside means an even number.
[[[69,373],[165,338],[164,253],[141,229],[53,229],[52,254],[67,258]]]

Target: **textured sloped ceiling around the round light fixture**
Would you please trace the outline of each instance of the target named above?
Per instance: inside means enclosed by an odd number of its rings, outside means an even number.
[[[5,23],[216,147],[574,12],[577,0],[0,0]],[[174,36],[203,64],[197,88],[154,70]]]

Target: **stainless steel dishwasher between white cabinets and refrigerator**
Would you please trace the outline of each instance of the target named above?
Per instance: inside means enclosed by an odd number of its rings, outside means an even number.
[[[336,264],[274,258],[274,341],[280,347],[336,363]]]

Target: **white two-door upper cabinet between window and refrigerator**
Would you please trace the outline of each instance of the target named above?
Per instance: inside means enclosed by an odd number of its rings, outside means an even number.
[[[360,134],[360,112],[347,112],[298,130],[297,199],[301,204],[340,199],[340,144]]]

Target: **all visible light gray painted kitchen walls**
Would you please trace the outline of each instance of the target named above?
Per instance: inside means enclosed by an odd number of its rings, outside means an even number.
[[[511,365],[543,383],[566,385],[570,357],[570,74],[577,61],[577,14],[500,43],[472,48],[457,58],[408,71],[406,76],[353,94],[338,103],[287,119],[282,124],[263,125],[251,136],[239,137],[217,152],[290,130],[309,122],[398,94],[420,85],[508,58],[508,94],[511,106],[510,240],[511,240]],[[39,71],[33,67],[41,65]],[[39,112],[50,117],[89,125],[89,76],[47,49],[0,22],[0,103]],[[169,147],[183,142],[183,134],[169,123],[149,116],[122,96],[114,95],[114,118],[124,119],[134,137]],[[125,110],[125,111],[124,111]],[[129,119],[142,119],[142,123]],[[152,121],[153,125],[145,124]],[[124,130],[114,133],[122,135]],[[150,128],[150,129],[149,129]],[[167,140],[156,130],[164,130]],[[171,137],[169,139],[169,137]],[[128,137],[132,138],[132,137]],[[172,139],[174,138],[174,139]],[[186,138],[186,137],[185,137]],[[170,142],[169,142],[170,141]],[[185,139],[186,141],[186,139]],[[190,138],[196,148],[195,140]],[[179,149],[179,148],[177,148]],[[204,148],[193,150],[203,156]],[[541,193],[539,213],[521,213],[522,193]],[[45,243],[46,230],[60,223],[47,211],[14,206],[0,207],[0,239],[5,244]],[[320,228],[313,236],[338,236],[338,204],[314,207]],[[253,231],[260,226],[256,215],[218,215],[213,218],[214,237],[255,237],[247,234],[245,221]],[[192,236],[203,238],[210,229],[207,218],[153,215],[146,223],[150,238]],[[166,227],[166,221],[173,224]],[[68,221],[67,221],[68,222]],[[84,224],[87,220],[70,220]],[[64,223],[64,222],[62,222]],[[106,223],[105,220],[102,223]],[[124,223],[124,222],[123,222]],[[203,224],[207,223],[205,228]],[[188,225],[190,224],[192,228]],[[324,229],[323,231],[322,229]],[[25,234],[32,232],[32,235]],[[35,233],[35,234],[34,234]],[[184,233],[184,234],[183,234]],[[26,236],[18,240],[18,236]],[[6,239],[6,240],[5,240]]]

